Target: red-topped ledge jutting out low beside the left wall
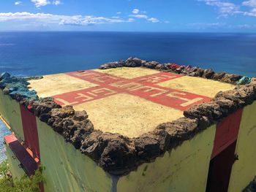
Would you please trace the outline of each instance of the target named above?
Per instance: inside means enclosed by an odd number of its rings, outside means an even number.
[[[34,158],[32,158],[31,155],[29,155],[23,145],[20,144],[18,139],[13,134],[11,134],[4,137],[4,141],[7,143],[7,145],[9,145],[12,153],[14,153],[18,158],[18,161],[20,161],[20,164],[22,164],[26,174],[29,176],[34,174],[34,172],[37,170],[37,162],[34,161]]]

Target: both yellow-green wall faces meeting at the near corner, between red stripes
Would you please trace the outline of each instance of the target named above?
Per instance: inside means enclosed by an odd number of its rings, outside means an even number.
[[[119,178],[117,185],[94,161],[38,118],[37,127],[41,163],[46,167],[45,191],[205,191],[215,126]]]

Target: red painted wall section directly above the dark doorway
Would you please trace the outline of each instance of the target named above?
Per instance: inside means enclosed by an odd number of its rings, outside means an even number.
[[[217,124],[214,149],[211,154],[211,158],[225,150],[227,146],[235,142],[238,137],[238,131],[241,123],[241,115],[243,110],[238,110],[227,118],[224,118],[220,123]]]

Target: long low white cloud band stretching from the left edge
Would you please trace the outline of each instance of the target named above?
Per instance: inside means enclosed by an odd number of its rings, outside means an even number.
[[[45,13],[31,13],[31,12],[0,12],[0,22],[7,20],[20,20],[37,22],[41,24],[59,24],[59,25],[75,25],[75,26],[89,26],[103,23],[126,23],[133,20],[124,20],[121,18],[105,18],[95,17],[91,15],[53,15]]]

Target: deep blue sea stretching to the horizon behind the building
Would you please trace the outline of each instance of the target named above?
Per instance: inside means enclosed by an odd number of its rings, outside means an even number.
[[[95,69],[138,57],[256,77],[256,34],[0,32],[0,73],[34,76]],[[2,137],[10,131],[0,122]]]

